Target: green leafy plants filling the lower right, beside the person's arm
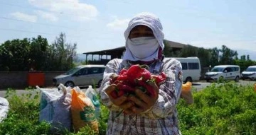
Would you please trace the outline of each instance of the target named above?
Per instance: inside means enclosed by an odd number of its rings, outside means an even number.
[[[252,86],[213,83],[193,91],[194,104],[178,103],[182,134],[255,134],[256,93]]]

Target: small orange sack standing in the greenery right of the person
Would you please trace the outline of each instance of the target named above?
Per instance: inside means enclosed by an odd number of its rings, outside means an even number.
[[[186,82],[185,84],[182,84],[181,87],[181,98],[183,98],[186,103],[192,104],[193,103],[193,95],[192,95],[192,83],[191,82]]]

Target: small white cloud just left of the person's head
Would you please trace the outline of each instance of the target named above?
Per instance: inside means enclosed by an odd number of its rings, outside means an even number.
[[[130,19],[114,19],[111,23],[107,23],[107,27],[112,30],[125,30]]]

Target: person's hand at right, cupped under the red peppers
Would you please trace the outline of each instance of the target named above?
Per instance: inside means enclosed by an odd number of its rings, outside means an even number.
[[[154,106],[159,97],[159,88],[156,86],[156,83],[149,83],[149,85],[154,88],[156,95],[147,95],[142,90],[137,88],[135,90],[135,95],[129,95],[128,98],[129,102],[134,102],[134,105],[127,110],[124,110],[124,113],[128,115],[137,115],[151,109],[151,107]]]

